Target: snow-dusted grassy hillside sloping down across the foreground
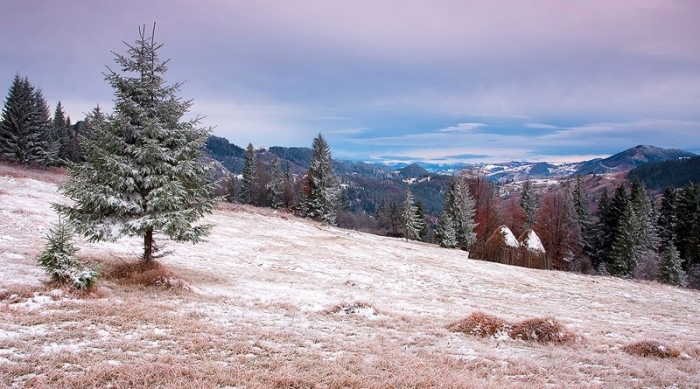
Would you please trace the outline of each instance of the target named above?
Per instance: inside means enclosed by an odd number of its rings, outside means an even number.
[[[509,267],[466,253],[219,207],[208,242],[167,243],[182,288],[101,280],[52,289],[36,257],[57,221],[57,173],[0,164],[0,384],[6,387],[700,387],[700,294]],[[164,241],[160,241],[163,243]],[[107,268],[138,239],[78,241]],[[553,316],[541,345],[452,333],[473,311]],[[656,340],[680,358],[629,355]]]

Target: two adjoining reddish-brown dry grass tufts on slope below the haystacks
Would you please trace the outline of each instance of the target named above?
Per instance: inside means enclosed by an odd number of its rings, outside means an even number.
[[[512,339],[539,343],[567,343],[576,339],[573,332],[553,317],[525,319],[512,324],[481,311],[472,312],[467,317],[448,324],[447,329],[482,338],[504,333]]]

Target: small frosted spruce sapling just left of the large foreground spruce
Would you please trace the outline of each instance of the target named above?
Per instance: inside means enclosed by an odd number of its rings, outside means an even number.
[[[71,244],[72,237],[70,228],[59,220],[46,236],[46,248],[39,257],[39,264],[46,269],[52,280],[78,290],[90,290],[100,273],[75,257],[78,249]]]

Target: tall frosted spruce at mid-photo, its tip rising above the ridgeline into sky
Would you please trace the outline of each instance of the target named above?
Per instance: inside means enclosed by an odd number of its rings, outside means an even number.
[[[322,134],[314,138],[306,182],[305,216],[335,225],[339,196],[331,151]]]

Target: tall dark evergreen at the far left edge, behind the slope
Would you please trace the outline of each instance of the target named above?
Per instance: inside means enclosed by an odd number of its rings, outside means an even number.
[[[15,75],[0,119],[0,157],[49,164],[56,157],[49,108],[28,78]]]

